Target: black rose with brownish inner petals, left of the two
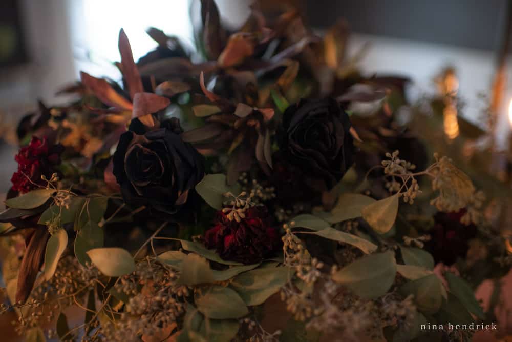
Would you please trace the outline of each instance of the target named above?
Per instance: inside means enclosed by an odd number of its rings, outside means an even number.
[[[203,157],[170,127],[121,135],[114,175],[124,201],[175,214],[204,176]]]

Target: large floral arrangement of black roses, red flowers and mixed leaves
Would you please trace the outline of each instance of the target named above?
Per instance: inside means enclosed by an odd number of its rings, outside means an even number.
[[[81,73],[62,90],[76,102],[20,122],[0,213],[16,329],[470,340],[447,323],[485,321],[473,289],[506,272],[506,244],[470,177],[400,124],[407,79],[359,73],[344,22],[320,37],[255,4],[228,32],[201,5],[194,53],[150,29],[159,46],[135,63],[121,30],[122,85]]]

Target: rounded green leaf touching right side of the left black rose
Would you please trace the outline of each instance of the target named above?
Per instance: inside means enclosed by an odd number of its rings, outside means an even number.
[[[224,194],[231,192],[233,195],[237,196],[240,193],[240,185],[237,183],[228,186],[224,174],[207,174],[201,182],[196,185],[196,191],[211,207],[221,210],[222,203],[227,199],[224,197]]]

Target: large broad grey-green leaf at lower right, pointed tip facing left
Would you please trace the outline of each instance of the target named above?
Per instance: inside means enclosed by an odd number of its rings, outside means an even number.
[[[336,272],[332,278],[356,295],[374,299],[388,292],[396,275],[393,252],[375,253],[360,259]]]

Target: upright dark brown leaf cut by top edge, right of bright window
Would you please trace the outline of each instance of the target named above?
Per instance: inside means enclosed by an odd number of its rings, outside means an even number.
[[[204,47],[208,56],[215,59],[222,51],[226,32],[221,26],[219,9],[214,0],[201,0],[201,18]]]

